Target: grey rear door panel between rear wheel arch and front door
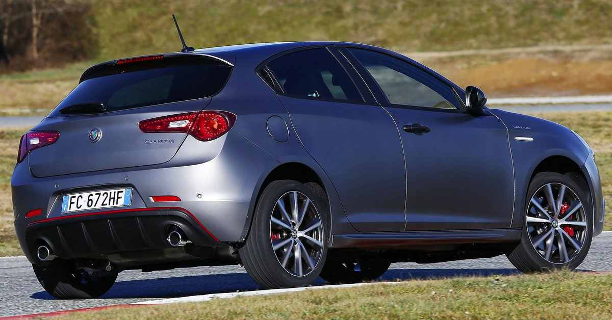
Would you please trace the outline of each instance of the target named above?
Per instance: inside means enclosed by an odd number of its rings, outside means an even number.
[[[357,231],[403,231],[400,136],[380,106],[280,96],[305,149],[326,171]]]

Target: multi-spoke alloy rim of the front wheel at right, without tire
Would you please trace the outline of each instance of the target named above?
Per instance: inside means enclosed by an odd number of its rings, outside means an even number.
[[[526,223],[535,251],[554,264],[575,258],[588,233],[580,199],[572,189],[556,182],[543,185],[531,197]]]

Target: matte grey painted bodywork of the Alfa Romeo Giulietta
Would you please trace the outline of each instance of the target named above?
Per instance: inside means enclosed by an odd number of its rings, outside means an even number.
[[[376,240],[378,245],[374,247],[406,245],[409,239],[419,237],[430,239],[428,244],[453,239],[487,243],[498,237],[500,243],[515,241],[520,236],[515,231],[521,228],[529,179],[535,167],[553,155],[571,159],[587,177],[598,234],[603,226],[600,222],[603,218],[599,218],[603,213],[599,173],[589,150],[570,130],[500,110],[491,111],[495,117],[474,118],[463,113],[390,108],[385,106],[384,95],[376,87],[356,76],[362,67],[354,61],[349,63],[345,60],[349,56],[345,58],[335,51],[334,47],[340,47],[344,53],[343,45],[368,48],[408,61],[463,94],[461,88],[418,62],[389,50],[355,43],[261,43],[196,50],[188,54],[209,54],[236,64],[225,88],[212,98],[121,113],[46,118],[34,127],[59,130],[61,136],[58,143],[32,152],[15,166],[11,184],[15,229],[22,247],[28,247],[24,237],[28,223],[60,215],[54,205],[59,195],[111,185],[134,188],[132,207],[183,207],[222,242],[242,242],[248,236],[256,199],[266,177],[278,166],[291,163],[312,169],[326,190],[332,212],[332,248],[373,245],[374,242],[368,244],[368,239]],[[312,47],[330,47],[348,68],[362,94],[371,92],[364,95],[368,103],[321,102],[279,95],[256,74],[269,58],[288,50]],[[353,66],[356,70],[351,69]],[[140,146],[140,140],[148,137],[137,132],[138,121],[203,108],[234,113],[236,124],[213,141],[149,134],[154,139],[174,139],[180,147],[144,143]],[[267,130],[271,117],[285,122],[286,137],[280,137],[275,124],[273,135],[281,139],[272,137]],[[280,121],[274,121],[280,125]],[[417,136],[398,130],[414,122],[430,126],[431,132]],[[379,132],[364,133],[364,126],[371,125],[376,125]],[[512,125],[530,127],[528,133],[534,141],[514,140],[515,136],[527,134]],[[93,127],[101,128],[105,135],[95,144],[87,140]],[[117,142],[121,133],[129,136],[125,142]],[[466,137],[459,136],[462,133]],[[285,138],[285,142],[278,141]],[[103,144],[105,141],[109,143]],[[113,148],[111,141],[119,146]],[[147,147],[159,148],[155,150],[159,152],[151,152]],[[85,163],[88,157],[92,163]],[[436,166],[444,171],[431,169]],[[511,180],[512,170],[515,184]],[[494,183],[498,187],[490,188]],[[437,190],[446,198],[435,199],[431,196],[433,192],[424,190]],[[198,194],[202,197],[198,198]],[[182,201],[152,203],[153,195],[176,195]],[[428,203],[420,203],[421,198]],[[496,210],[491,209],[493,203],[498,204]],[[41,217],[24,218],[26,212],[38,208],[43,210]],[[466,230],[453,230],[458,228]],[[491,231],[492,228],[497,229]],[[446,236],[442,240],[439,234]],[[37,263],[31,252],[24,251],[31,262]]]

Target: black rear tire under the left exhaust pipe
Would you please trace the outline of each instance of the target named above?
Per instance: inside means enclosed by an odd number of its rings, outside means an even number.
[[[48,266],[32,265],[40,285],[58,299],[91,299],[102,296],[114,284],[117,274],[83,277],[83,272],[68,260],[56,259]]]

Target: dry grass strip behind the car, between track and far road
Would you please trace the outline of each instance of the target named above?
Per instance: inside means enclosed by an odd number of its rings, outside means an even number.
[[[537,107],[534,107],[537,108]],[[612,212],[612,111],[584,113],[543,113],[536,116],[572,128],[583,136],[597,154],[603,195],[608,199],[606,212]],[[13,205],[10,196],[10,175],[20,136],[28,128],[0,129],[0,256],[21,255],[13,229]],[[612,218],[605,220],[605,230],[612,230]]]

